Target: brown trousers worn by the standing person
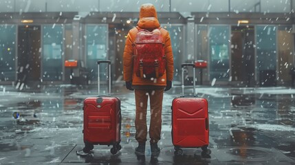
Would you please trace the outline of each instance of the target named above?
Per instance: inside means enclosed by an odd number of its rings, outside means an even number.
[[[161,137],[162,129],[162,101],[164,89],[135,89],[135,139],[139,143],[146,142],[146,109],[148,98],[151,106],[151,122],[149,125],[149,137],[151,143],[157,143]]]

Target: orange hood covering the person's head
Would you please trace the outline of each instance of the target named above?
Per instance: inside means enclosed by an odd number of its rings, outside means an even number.
[[[160,23],[157,20],[157,12],[153,4],[146,3],[140,7],[140,20],[138,21],[138,27],[147,30],[153,30],[160,27]]]

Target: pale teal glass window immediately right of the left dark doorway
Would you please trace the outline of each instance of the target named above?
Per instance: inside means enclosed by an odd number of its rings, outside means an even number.
[[[63,26],[43,26],[42,79],[62,80]]]

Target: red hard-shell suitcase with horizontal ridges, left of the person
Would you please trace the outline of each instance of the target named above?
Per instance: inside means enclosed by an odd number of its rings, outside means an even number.
[[[109,65],[109,96],[100,96],[100,63]],[[113,145],[112,154],[120,151],[121,109],[120,99],[111,97],[111,61],[98,61],[98,97],[86,98],[83,110],[84,153],[89,153],[94,144]]]

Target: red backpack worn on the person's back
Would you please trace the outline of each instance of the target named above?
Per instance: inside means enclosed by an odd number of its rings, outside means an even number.
[[[166,68],[164,43],[159,29],[138,30],[133,43],[133,71],[140,78],[158,78]]]

